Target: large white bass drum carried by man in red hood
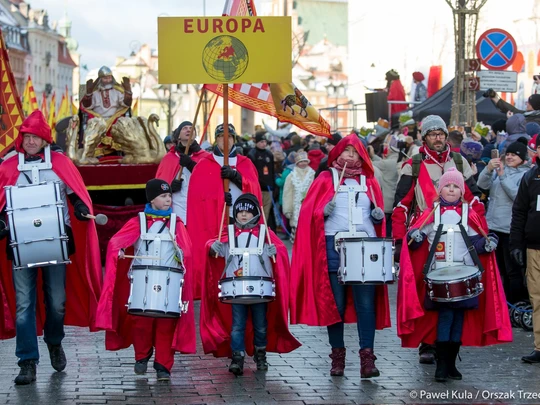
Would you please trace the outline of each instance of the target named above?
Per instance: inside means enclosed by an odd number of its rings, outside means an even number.
[[[5,192],[14,268],[71,263],[60,183],[7,186]]]

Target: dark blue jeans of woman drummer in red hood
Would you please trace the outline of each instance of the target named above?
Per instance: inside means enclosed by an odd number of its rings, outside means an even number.
[[[347,287],[339,284],[337,273],[329,272],[330,284],[339,316],[343,319],[345,306],[347,304]],[[360,349],[373,349],[375,341],[375,286],[374,285],[353,285],[354,309],[356,310],[356,327],[358,328],[358,340]],[[344,323],[338,322],[327,326],[328,340],[332,349],[345,347],[343,341]]]

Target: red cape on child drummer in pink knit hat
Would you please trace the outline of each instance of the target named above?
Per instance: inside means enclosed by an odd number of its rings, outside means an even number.
[[[411,225],[411,229],[422,224],[431,214],[431,209]],[[426,222],[433,222],[433,216]],[[487,232],[485,218],[469,210],[469,226],[476,232]],[[424,263],[427,261],[428,244],[415,251],[403,243],[397,297],[397,329],[403,347],[418,347],[421,342],[434,343],[437,338],[437,311],[424,309],[426,296]],[[465,312],[462,342],[465,346],[487,346],[512,341],[512,327],[508,316],[506,298],[502,287],[495,253],[479,255],[484,274],[484,292],[480,294],[478,309]]]

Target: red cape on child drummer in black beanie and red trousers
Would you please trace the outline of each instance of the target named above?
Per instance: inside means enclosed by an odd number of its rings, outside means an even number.
[[[130,282],[127,277],[131,260],[118,260],[118,251],[126,249],[139,239],[141,228],[139,217],[130,219],[110,240],[105,264],[105,283],[99,300],[96,326],[105,329],[105,348],[120,350],[131,346],[134,316],[128,314],[126,303]],[[191,241],[184,224],[177,217],[176,243],[184,251],[184,288],[182,300],[189,301],[188,312],[182,314],[176,323],[172,349],[181,353],[195,353],[195,307],[193,306],[191,266]],[[132,249],[130,249],[132,250]]]

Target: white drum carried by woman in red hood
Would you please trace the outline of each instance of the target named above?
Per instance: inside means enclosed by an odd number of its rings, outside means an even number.
[[[394,282],[393,242],[388,238],[336,238],[341,284]]]

